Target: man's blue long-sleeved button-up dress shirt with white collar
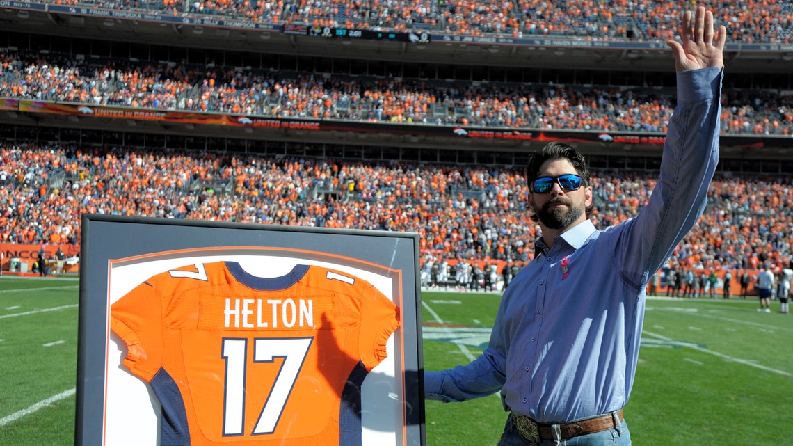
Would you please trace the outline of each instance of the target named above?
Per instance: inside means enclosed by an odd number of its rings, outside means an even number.
[[[425,398],[459,402],[501,390],[504,409],[541,423],[625,406],[634,384],[647,281],[702,215],[718,162],[722,71],[677,74],[661,175],[634,218],[604,230],[584,221],[554,239],[502,298],[485,352],[425,371]]]

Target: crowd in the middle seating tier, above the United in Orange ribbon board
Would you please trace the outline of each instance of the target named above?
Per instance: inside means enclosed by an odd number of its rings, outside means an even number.
[[[665,132],[674,109],[673,90],[642,87],[366,79],[128,60],[89,65],[29,52],[0,54],[0,97],[270,117],[634,132]],[[722,104],[722,133],[793,133],[793,96],[733,89],[726,90]]]

